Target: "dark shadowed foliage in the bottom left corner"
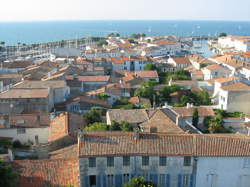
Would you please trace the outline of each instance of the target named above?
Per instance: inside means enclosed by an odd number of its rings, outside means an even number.
[[[0,160],[0,186],[14,187],[16,186],[17,174],[10,165],[6,165]]]

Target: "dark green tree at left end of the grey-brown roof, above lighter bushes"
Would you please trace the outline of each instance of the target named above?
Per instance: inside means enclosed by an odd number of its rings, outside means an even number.
[[[83,117],[85,118],[87,124],[92,124],[95,122],[101,122],[102,115],[105,115],[105,113],[105,109],[93,107],[88,113],[84,114]]]

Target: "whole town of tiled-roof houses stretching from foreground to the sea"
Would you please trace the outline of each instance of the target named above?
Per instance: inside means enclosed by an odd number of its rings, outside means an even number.
[[[0,158],[10,186],[250,187],[250,36],[2,41]]]

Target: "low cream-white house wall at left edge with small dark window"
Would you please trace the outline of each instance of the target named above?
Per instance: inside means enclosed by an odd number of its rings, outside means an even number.
[[[8,128],[0,129],[0,137],[10,137],[13,141],[21,143],[29,141],[35,143],[48,143],[49,127],[44,128]]]

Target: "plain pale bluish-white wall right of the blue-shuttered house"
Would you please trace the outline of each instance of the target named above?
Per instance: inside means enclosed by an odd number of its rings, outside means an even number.
[[[250,157],[198,157],[197,187],[249,187]]]

